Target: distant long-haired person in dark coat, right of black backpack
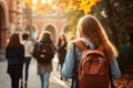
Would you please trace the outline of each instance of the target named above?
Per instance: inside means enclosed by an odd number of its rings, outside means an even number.
[[[58,53],[58,58],[59,58],[57,69],[59,69],[59,66],[60,66],[60,73],[61,73],[64,58],[65,58],[65,54],[66,54],[66,44],[68,43],[66,43],[65,35],[63,33],[60,34],[58,38],[58,44],[57,44],[57,53]],[[60,79],[62,80],[62,75]]]

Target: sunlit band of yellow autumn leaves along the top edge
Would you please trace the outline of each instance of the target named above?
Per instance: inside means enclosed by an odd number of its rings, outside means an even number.
[[[71,10],[83,11],[88,14],[91,8],[100,0],[22,0],[31,7],[37,14],[49,13],[53,7],[63,9],[65,12]]]

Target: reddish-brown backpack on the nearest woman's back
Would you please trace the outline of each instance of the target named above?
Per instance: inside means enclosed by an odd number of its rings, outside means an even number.
[[[91,50],[82,42],[74,44],[82,51],[78,66],[79,88],[109,88],[109,63],[102,47]]]

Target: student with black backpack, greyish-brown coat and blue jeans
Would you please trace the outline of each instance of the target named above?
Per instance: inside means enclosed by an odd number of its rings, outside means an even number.
[[[38,75],[41,79],[41,88],[49,88],[50,73],[52,72],[52,58],[55,46],[49,31],[44,31],[33,50],[33,57],[38,62]]]

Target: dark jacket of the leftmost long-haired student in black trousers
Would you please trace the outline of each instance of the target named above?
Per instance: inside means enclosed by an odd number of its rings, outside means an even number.
[[[7,47],[6,58],[8,59],[8,74],[22,74],[24,61],[24,46]]]

